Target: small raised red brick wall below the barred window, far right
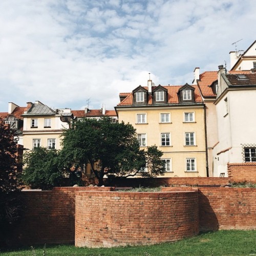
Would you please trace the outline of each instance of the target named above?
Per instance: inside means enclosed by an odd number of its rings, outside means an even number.
[[[228,177],[234,182],[256,183],[256,163],[228,163]]]

